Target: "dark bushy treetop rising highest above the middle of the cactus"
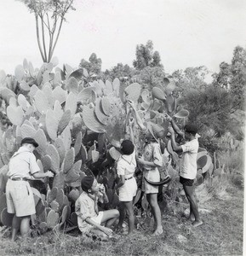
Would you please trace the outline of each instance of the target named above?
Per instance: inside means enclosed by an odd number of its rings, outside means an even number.
[[[153,43],[151,40],[146,45],[137,45],[136,60],[134,60],[133,64],[138,70],[145,67],[163,67],[159,53],[157,51],[153,52]]]

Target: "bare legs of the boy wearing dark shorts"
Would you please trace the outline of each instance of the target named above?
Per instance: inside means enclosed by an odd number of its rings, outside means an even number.
[[[188,201],[190,202],[190,218],[192,215],[195,217],[195,221],[192,223],[193,226],[197,227],[201,224],[203,224],[203,221],[200,219],[198,207],[197,207],[197,199],[194,192],[193,186],[186,186],[184,185],[184,190],[186,192],[186,197]]]

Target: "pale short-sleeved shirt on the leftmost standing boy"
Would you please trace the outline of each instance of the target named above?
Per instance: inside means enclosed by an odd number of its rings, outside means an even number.
[[[33,173],[39,172],[35,155],[27,148],[20,147],[9,160],[9,177],[31,178]]]

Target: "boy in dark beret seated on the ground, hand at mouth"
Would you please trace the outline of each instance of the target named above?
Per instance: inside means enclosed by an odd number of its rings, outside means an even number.
[[[81,187],[83,192],[75,203],[79,230],[88,236],[112,236],[110,228],[119,217],[119,212],[116,209],[99,212],[97,206],[100,193],[104,201],[108,201],[105,188],[100,189],[100,184],[92,176],[83,177]],[[106,223],[105,226],[102,223]]]

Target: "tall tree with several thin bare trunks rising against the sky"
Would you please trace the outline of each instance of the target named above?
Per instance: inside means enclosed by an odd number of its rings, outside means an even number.
[[[35,15],[37,44],[43,62],[49,62],[73,0],[18,0]],[[48,43],[48,44],[47,44]]]

